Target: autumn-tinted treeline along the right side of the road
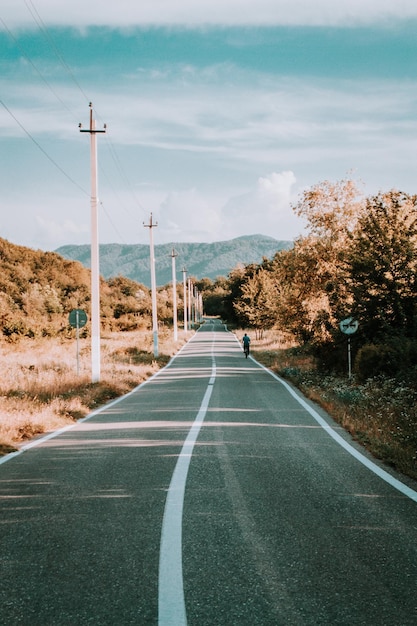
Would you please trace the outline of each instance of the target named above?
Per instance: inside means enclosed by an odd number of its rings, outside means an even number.
[[[339,323],[353,317],[359,379],[415,380],[417,197],[392,190],[366,198],[342,180],[305,191],[293,208],[306,234],[272,259],[197,283],[206,313],[257,333],[279,328],[328,370],[345,367]]]

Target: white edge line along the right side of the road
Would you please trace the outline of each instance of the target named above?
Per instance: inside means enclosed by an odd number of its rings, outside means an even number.
[[[330,437],[332,437],[332,439],[334,439],[340,446],[342,446],[342,448],[344,448],[347,452],[349,452],[349,454],[351,454],[353,457],[355,457],[355,459],[357,459],[360,463],[362,463],[362,465],[367,467],[371,472],[373,472],[374,474],[379,476],[379,478],[382,478],[382,480],[384,480],[386,483],[391,485],[391,487],[394,487],[394,489],[397,489],[397,491],[402,493],[404,496],[407,496],[407,498],[410,498],[411,500],[414,500],[414,502],[417,502],[417,491],[414,491],[414,489],[411,489],[411,487],[408,487],[407,485],[402,483],[400,480],[397,480],[396,478],[394,478],[394,476],[392,476],[391,474],[386,472],[384,469],[379,467],[379,465],[377,465],[376,463],[374,463],[373,461],[368,459],[365,455],[363,455],[361,452],[356,450],[356,448],[351,446],[350,443],[348,443],[345,439],[343,439],[343,437],[341,437],[326,422],[326,420],[324,420],[317,413],[317,411],[315,411],[311,406],[309,406],[307,404],[307,402],[305,400],[303,400],[303,398],[301,398],[294,391],[294,389],[292,389],[292,387],[290,387],[290,385],[287,382],[285,382],[285,380],[283,380],[282,378],[277,376],[277,374],[275,374],[274,372],[269,370],[267,367],[262,365],[262,363],[259,363],[252,356],[250,358],[252,359],[252,361],[257,363],[257,365],[259,365],[262,369],[264,369],[266,372],[268,372],[268,374],[270,374],[273,378],[275,378],[275,380],[277,380],[279,383],[281,383],[281,385],[283,385],[285,387],[285,389],[287,389],[287,391],[292,395],[292,397],[295,398],[297,400],[297,402],[299,404],[301,404],[301,406],[306,411],[308,411],[308,413],[310,413],[311,417],[313,417],[316,420],[316,422],[328,433],[328,435],[330,435]]]

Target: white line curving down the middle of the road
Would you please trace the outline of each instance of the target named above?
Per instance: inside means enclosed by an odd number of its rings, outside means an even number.
[[[216,380],[216,363],[212,344],[211,377],[184,445],[181,449],[165,502],[159,552],[158,626],[186,626],[184,580],[182,572],[182,514],[185,486],[194,446],[207,414],[213,385]]]

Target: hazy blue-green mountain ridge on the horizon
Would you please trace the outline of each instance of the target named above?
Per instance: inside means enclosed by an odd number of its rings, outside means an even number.
[[[227,276],[237,265],[260,263],[263,257],[272,258],[279,250],[291,248],[291,241],[278,241],[264,235],[237,237],[215,243],[166,243],[155,245],[155,274],[158,286],[172,281],[172,250],[176,258],[177,277],[186,267],[189,276],[196,279]],[[66,259],[80,261],[90,267],[90,246],[61,246],[56,250]],[[150,286],[149,246],[143,244],[100,244],[100,274],[108,279],[125,276]]]

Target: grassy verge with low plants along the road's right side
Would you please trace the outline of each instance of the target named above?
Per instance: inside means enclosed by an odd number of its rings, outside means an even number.
[[[303,350],[274,343],[272,331],[252,344],[260,363],[322,406],[376,458],[417,479],[416,388],[380,377],[358,384],[324,375]]]

